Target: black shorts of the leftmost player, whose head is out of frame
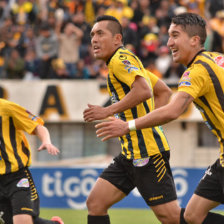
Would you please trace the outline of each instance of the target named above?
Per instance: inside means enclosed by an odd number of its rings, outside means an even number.
[[[39,215],[39,196],[28,168],[0,175],[0,214],[5,223],[12,223],[12,216]]]

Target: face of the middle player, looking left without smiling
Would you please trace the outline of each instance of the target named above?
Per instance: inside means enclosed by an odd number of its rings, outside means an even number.
[[[117,49],[116,35],[107,28],[108,21],[97,22],[90,33],[93,55],[107,61]]]

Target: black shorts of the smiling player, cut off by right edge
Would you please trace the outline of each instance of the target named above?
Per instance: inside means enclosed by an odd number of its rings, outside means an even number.
[[[194,193],[224,204],[224,167],[219,159],[207,168]]]

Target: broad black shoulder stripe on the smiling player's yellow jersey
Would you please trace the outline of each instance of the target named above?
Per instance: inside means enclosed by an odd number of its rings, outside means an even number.
[[[219,100],[219,104],[221,105],[222,107],[222,110],[224,111],[224,95],[223,95],[223,90],[222,90],[222,87],[221,87],[221,84],[219,82],[219,79],[217,78],[215,72],[212,70],[212,68],[210,67],[210,65],[204,61],[197,61],[195,62],[195,64],[201,64],[205,67],[205,69],[208,71],[208,74],[212,80],[212,83],[213,83],[213,86],[214,86],[214,89],[215,89],[215,92],[216,92],[216,96]]]

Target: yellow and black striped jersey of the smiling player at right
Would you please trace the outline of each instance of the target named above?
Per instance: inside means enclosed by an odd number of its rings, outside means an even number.
[[[216,52],[199,52],[182,75],[178,91],[184,91],[194,98],[194,104],[206,125],[218,138],[220,156],[222,156],[224,153],[224,55]]]

